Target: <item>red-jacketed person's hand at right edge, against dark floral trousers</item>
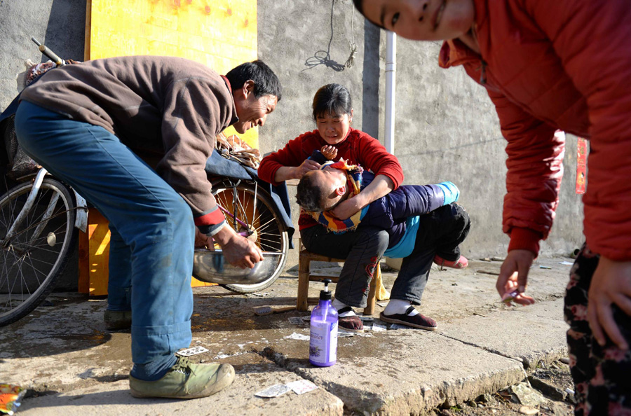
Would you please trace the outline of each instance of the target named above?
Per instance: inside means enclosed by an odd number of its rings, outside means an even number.
[[[631,316],[631,261],[613,261],[600,256],[588,293],[588,321],[594,338],[605,345],[604,332],[620,349],[629,345],[613,320],[611,305]]]

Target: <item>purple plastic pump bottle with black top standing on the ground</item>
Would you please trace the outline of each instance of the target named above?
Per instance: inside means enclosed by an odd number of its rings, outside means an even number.
[[[311,312],[309,362],[318,367],[329,367],[337,362],[337,310],[331,305],[330,279],[320,291],[320,303]]]

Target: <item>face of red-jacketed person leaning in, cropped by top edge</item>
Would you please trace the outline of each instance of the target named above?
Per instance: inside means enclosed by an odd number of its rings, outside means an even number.
[[[446,41],[473,26],[473,0],[353,0],[375,25],[414,41]]]

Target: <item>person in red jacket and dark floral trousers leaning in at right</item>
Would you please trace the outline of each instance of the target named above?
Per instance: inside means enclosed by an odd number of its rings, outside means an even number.
[[[498,292],[524,294],[548,237],[564,134],[590,139],[585,245],[565,298],[577,415],[631,412],[631,7],[614,0],[353,0],[376,25],[445,41],[443,68],[462,65],[487,89],[508,174],[510,235]]]

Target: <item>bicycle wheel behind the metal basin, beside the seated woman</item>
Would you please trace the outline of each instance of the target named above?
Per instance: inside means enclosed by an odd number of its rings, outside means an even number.
[[[276,209],[276,205],[273,204],[268,193],[261,188],[257,188],[255,204],[255,186],[245,182],[232,187],[228,181],[217,181],[212,183],[212,193],[219,205],[231,214],[236,214],[238,219],[250,226],[250,230],[254,233],[247,237],[248,239],[256,242],[262,251],[283,254],[279,257],[271,277],[263,282],[257,284],[222,284],[222,286],[237,293],[252,293],[265,289],[276,282],[280,273],[283,272],[289,250],[287,230],[281,221],[282,217]],[[237,233],[247,232],[247,228],[231,219],[229,215],[226,215],[226,221]]]

